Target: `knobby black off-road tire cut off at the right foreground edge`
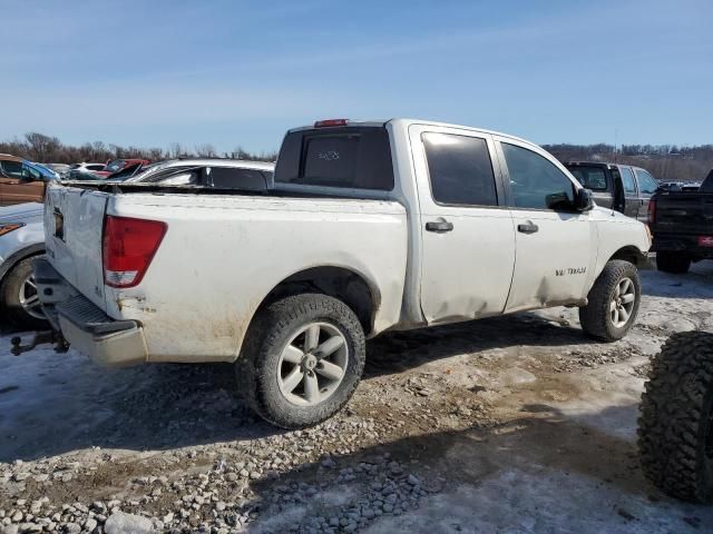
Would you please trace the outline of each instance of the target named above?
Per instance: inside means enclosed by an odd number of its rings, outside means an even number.
[[[638,447],[646,477],[666,494],[713,501],[713,334],[674,334],[653,360]]]

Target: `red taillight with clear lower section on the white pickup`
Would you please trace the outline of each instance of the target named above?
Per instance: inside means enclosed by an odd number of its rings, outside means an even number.
[[[158,220],[113,217],[104,221],[104,281],[137,286],[154,259],[168,226]]]

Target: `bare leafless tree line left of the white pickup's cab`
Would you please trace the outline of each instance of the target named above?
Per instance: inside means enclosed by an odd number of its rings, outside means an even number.
[[[219,152],[211,144],[196,145],[193,148],[179,142],[172,142],[166,148],[121,147],[102,141],[84,145],[65,145],[58,137],[45,134],[26,134],[23,139],[0,141],[0,154],[11,154],[30,161],[41,164],[77,164],[82,161],[106,162],[109,159],[138,158],[160,161],[170,158],[233,158],[257,161],[274,161],[276,152],[248,152],[236,147],[229,152]]]

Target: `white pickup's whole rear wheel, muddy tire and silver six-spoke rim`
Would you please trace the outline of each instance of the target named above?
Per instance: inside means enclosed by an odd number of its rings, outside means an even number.
[[[364,330],[341,300],[283,298],[258,312],[236,364],[250,405],[284,428],[316,425],[350,399],[364,369]]]

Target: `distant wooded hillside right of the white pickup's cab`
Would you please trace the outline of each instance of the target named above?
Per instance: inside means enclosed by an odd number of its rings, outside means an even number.
[[[643,167],[660,180],[701,181],[713,168],[713,145],[544,145],[560,161],[612,161]]]

